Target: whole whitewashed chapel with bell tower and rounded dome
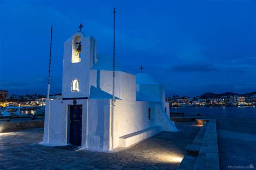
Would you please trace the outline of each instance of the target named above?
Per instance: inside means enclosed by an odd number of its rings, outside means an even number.
[[[111,62],[97,57],[92,36],[77,32],[66,40],[62,99],[46,101],[43,144],[112,151],[161,131],[177,131],[164,86],[149,74],[117,68],[112,106]]]

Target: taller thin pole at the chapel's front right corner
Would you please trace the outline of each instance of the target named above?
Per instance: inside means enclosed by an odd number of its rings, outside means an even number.
[[[111,141],[112,141],[112,146],[111,148],[113,149],[113,117],[114,117],[114,63],[115,63],[115,29],[116,29],[116,8],[113,8],[113,13],[114,13],[114,20],[113,20],[113,97],[112,97],[112,116],[111,116]]]

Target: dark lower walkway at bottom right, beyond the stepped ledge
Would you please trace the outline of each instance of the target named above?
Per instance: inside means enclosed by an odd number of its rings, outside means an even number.
[[[250,165],[254,167],[251,169],[256,168],[255,122],[256,119],[250,118],[217,118],[221,169]]]

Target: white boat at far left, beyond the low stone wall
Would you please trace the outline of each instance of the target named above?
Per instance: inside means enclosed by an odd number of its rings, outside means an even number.
[[[6,108],[1,114],[3,116],[10,116],[10,117],[29,117],[27,114],[28,111],[25,110],[24,107],[12,106]]]

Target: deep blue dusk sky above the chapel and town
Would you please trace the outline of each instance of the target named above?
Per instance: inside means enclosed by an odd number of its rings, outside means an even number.
[[[132,73],[151,74],[167,96],[256,91],[256,3],[212,1],[0,0],[0,89],[47,93],[53,25],[51,94],[62,89],[63,43],[78,31],[97,40]]]

